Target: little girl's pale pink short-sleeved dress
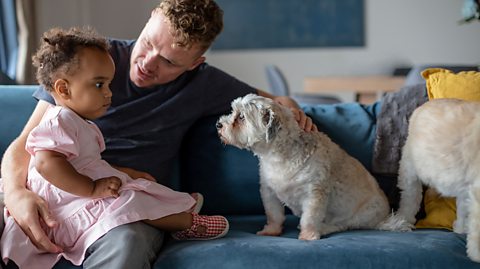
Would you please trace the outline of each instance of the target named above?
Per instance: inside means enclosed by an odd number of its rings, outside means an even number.
[[[64,252],[52,254],[37,250],[5,211],[5,229],[0,242],[2,258],[5,262],[13,260],[22,269],[51,268],[62,256],[80,265],[87,248],[112,228],[180,213],[195,203],[187,193],[145,179],[133,180],[112,168],[101,159],[100,152],[105,149],[105,143],[98,127],[66,108],[56,106],[47,111],[42,122],[29,135],[26,149],[32,155],[28,187],[45,199],[59,222],[56,228],[44,229]],[[53,186],[35,169],[34,156],[39,150],[63,153],[79,173],[92,179],[119,177],[122,180],[120,196],[84,198]]]

